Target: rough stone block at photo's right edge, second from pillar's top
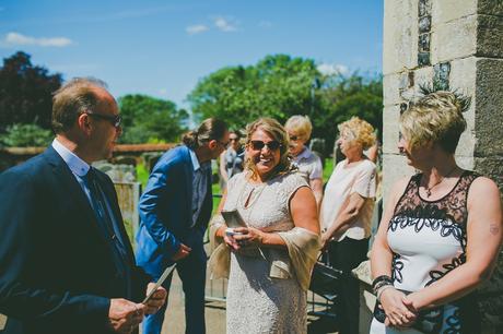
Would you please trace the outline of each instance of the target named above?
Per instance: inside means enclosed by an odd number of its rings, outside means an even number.
[[[503,16],[478,15],[477,56],[503,58]]]

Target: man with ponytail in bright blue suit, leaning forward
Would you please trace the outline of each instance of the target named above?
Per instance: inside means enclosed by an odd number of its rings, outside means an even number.
[[[187,133],[183,145],[167,151],[157,162],[143,192],[137,262],[157,278],[176,262],[185,293],[186,333],[204,333],[207,255],[202,239],[213,206],[211,159],[229,144],[226,124],[204,120]],[[164,287],[169,288],[171,277]],[[145,318],[144,334],[161,333],[164,309]]]

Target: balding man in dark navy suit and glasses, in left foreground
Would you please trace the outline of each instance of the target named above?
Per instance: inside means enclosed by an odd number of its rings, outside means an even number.
[[[90,164],[120,135],[114,97],[77,79],[54,96],[56,139],[0,175],[2,333],[131,333],[164,303],[134,265],[110,179]],[[0,331],[1,332],[1,331]]]

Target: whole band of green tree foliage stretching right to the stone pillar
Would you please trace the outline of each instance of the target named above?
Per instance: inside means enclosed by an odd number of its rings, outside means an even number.
[[[313,136],[325,139],[327,152],[337,124],[350,117],[359,116],[376,129],[383,123],[381,76],[324,75],[314,60],[285,55],[218,70],[202,79],[187,99],[199,118],[218,117],[236,128],[264,116],[284,122],[293,115],[308,115]]]

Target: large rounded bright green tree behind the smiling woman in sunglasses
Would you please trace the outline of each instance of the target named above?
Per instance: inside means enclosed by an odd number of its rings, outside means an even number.
[[[261,116],[284,122],[311,108],[311,84],[318,75],[313,60],[267,56],[256,65],[227,67],[211,73],[189,94],[192,112],[244,127]]]

